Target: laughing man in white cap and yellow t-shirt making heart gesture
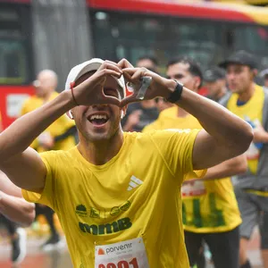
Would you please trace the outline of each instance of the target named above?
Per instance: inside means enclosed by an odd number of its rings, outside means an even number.
[[[133,96],[125,96],[123,77],[137,85]],[[124,133],[121,117],[128,104],[139,101],[144,77],[151,80],[145,99],[162,96],[182,106],[205,130]],[[81,63],[71,69],[65,89],[4,130],[0,168],[24,188],[27,200],[54,208],[74,267],[189,267],[182,181],[245,152],[251,127],[180,83],[125,59]],[[63,113],[76,122],[77,147],[41,155],[27,148]]]

